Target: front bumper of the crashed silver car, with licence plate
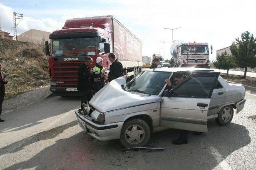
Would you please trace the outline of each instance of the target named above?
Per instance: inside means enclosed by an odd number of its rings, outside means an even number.
[[[76,110],[75,113],[80,127],[92,137],[100,141],[120,139],[120,133],[124,122],[98,124],[91,121],[85,115],[79,114],[78,110]]]

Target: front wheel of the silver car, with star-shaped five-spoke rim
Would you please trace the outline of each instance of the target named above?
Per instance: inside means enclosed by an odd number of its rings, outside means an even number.
[[[125,147],[143,147],[150,138],[150,127],[142,119],[132,119],[124,123],[120,141]]]

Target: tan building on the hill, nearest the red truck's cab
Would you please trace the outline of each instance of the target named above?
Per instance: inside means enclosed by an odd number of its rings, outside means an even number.
[[[37,29],[30,29],[17,36],[18,41],[29,42],[34,44],[44,44],[44,41],[50,41],[50,32],[41,31]]]

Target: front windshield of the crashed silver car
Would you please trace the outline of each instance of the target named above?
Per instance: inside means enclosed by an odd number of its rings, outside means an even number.
[[[171,72],[143,71],[127,83],[130,91],[158,95],[164,87],[164,80],[170,77]]]

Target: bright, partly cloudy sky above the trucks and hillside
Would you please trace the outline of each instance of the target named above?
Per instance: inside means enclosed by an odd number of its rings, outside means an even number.
[[[249,31],[256,36],[255,0],[0,0],[3,31],[13,32],[13,12],[23,14],[18,34],[29,29],[52,32],[69,18],[113,15],[142,41],[142,55],[170,59],[174,40],[206,42],[216,50],[228,47]]]

